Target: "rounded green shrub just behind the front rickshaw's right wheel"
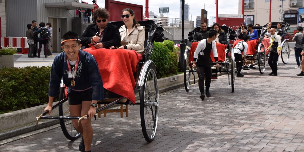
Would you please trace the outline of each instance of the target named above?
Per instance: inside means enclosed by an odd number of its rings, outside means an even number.
[[[150,59],[156,65],[157,78],[162,78],[169,70],[168,60],[170,58],[170,50],[161,42],[154,42],[154,45],[154,50]]]

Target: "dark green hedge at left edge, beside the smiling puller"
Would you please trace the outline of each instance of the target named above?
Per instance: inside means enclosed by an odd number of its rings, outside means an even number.
[[[0,114],[48,102],[51,67],[0,69]]]

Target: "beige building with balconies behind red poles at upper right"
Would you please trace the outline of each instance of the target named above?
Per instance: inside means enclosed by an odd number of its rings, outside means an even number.
[[[303,0],[245,0],[244,6],[242,6],[242,0],[239,0],[239,14],[242,14],[242,7],[244,7],[244,22],[265,25],[269,22],[270,1],[270,22],[280,22],[280,12],[282,12],[283,21],[290,25],[290,31],[293,32],[300,25],[299,16],[303,14],[304,18],[304,13],[299,13],[299,8],[303,7]]]

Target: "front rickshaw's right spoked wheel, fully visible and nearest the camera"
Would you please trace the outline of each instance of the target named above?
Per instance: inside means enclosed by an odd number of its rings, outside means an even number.
[[[154,140],[158,120],[158,86],[155,71],[148,67],[140,90],[140,122],[143,137]]]

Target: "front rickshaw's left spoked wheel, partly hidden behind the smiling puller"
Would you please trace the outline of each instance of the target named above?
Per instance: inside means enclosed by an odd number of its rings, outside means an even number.
[[[64,99],[64,89],[65,87],[60,88],[59,93],[59,101]],[[59,107],[59,116],[70,116],[69,104],[68,102],[64,102]],[[60,127],[65,137],[69,140],[75,140],[80,137],[80,133],[78,133],[72,123],[72,120],[60,119]]]

